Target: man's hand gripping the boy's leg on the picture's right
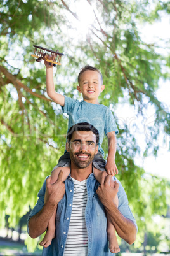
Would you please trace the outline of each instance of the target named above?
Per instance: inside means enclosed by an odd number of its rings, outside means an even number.
[[[111,179],[111,175],[108,175],[105,178],[105,172],[103,172],[101,176],[101,185],[96,190],[96,193],[98,194],[98,197],[104,206],[109,206],[110,202],[114,201],[115,196],[119,190],[119,184],[117,181],[114,182],[114,187],[111,187]]]

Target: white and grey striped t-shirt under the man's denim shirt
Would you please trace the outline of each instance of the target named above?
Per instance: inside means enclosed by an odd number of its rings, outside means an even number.
[[[88,255],[88,232],[85,221],[85,208],[87,203],[86,181],[74,181],[74,196],[69,231],[65,243],[64,256]]]

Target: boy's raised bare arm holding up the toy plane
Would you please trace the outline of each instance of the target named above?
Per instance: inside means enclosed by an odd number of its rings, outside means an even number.
[[[49,65],[49,62],[44,61],[46,66],[46,89],[48,96],[55,101],[55,103],[64,106],[65,97],[62,94],[58,94],[55,91],[55,85],[53,81],[53,66]]]

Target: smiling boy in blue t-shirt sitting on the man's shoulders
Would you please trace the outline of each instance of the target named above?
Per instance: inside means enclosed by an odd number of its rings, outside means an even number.
[[[108,174],[114,176],[118,173],[117,166],[115,164],[115,152],[116,152],[116,137],[115,134],[118,133],[117,125],[115,124],[112,112],[103,105],[98,103],[98,96],[105,89],[103,85],[103,78],[100,71],[91,66],[85,66],[81,69],[78,76],[79,85],[77,85],[77,90],[82,93],[83,101],[79,102],[69,97],[63,96],[55,92],[55,86],[53,83],[53,66],[49,66],[48,62],[44,62],[46,66],[46,87],[47,94],[55,103],[62,106],[63,113],[69,115],[69,127],[72,127],[78,122],[88,122],[98,129],[100,134],[100,141],[98,147],[98,153],[93,160],[94,175],[96,180],[101,183],[101,173],[102,171],[107,171]],[[108,138],[108,157],[107,162],[103,159],[103,149],[101,144],[103,141],[103,135],[107,134]],[[70,173],[70,157],[69,152],[60,157],[57,166],[53,169],[51,173],[51,183],[55,183],[58,178],[58,173],[62,167],[63,171],[63,181],[67,178]],[[114,184],[113,184],[114,186]],[[45,199],[46,200],[46,199]],[[118,198],[116,204],[118,205]],[[52,220],[53,219],[53,220]],[[117,253],[120,251],[119,245],[117,243],[117,238],[115,236],[115,228],[108,219],[108,241],[110,252]],[[51,222],[51,223],[50,223]],[[55,236],[55,214],[51,218],[48,225],[48,230],[44,239],[42,239],[40,245],[48,247],[51,244],[51,240]]]

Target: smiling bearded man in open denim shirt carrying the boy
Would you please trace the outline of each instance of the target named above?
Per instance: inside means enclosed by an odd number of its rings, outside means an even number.
[[[107,210],[117,234],[129,244],[136,239],[137,226],[128,206],[121,183],[102,173],[101,185],[93,175],[92,161],[98,152],[98,130],[88,123],[76,124],[68,132],[67,151],[70,152],[70,175],[62,182],[62,171],[55,184],[44,181],[38,201],[29,216],[28,230],[32,238],[40,236],[56,210],[56,236],[42,255],[113,255],[108,248]],[[44,204],[45,190],[48,199]],[[118,194],[119,207],[114,198]]]

